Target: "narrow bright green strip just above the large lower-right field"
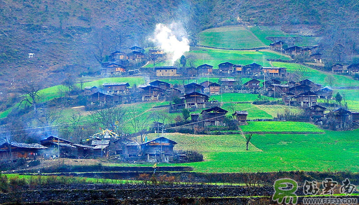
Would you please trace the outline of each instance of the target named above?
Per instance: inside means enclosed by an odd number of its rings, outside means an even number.
[[[308,122],[249,121],[241,126],[243,132],[324,132]]]

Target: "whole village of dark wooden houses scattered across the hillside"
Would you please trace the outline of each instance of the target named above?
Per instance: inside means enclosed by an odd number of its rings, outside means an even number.
[[[312,54],[312,48],[293,46],[283,49],[284,44],[284,42],[276,42],[271,44],[270,48],[292,55],[309,53],[315,61],[322,63],[321,54]],[[140,70],[127,70],[126,67],[131,64],[141,64],[148,58],[152,59],[153,65],[155,65],[156,60],[165,56],[162,50],[149,50],[147,55],[144,54],[142,48],[136,46],[130,50],[132,51],[129,54],[121,51],[111,53],[108,61],[102,64],[102,75],[116,76],[124,73],[142,75]],[[256,63],[242,66],[225,62],[219,64],[218,69],[213,69],[213,66],[203,64],[197,68],[182,68],[182,71],[187,77],[218,77],[218,81],[205,80],[201,83],[185,84],[186,78],[176,78],[184,76],[181,72],[177,72],[177,66],[153,67],[152,76],[157,80],[146,85],[137,87],[127,82],[104,83],[101,87],[86,87],[83,94],[89,96],[89,101],[93,107],[167,100],[170,101],[170,105],[167,106],[170,113],[182,112],[184,109],[188,111],[201,109],[201,112],[190,114],[191,120],[189,122],[198,123],[202,126],[223,126],[228,114],[231,114],[237,125],[247,125],[248,111],[233,110],[232,113],[228,113],[228,110],[221,108],[222,103],[218,101],[220,98],[211,100],[211,96],[218,96],[223,93],[258,94],[258,100],[256,100],[258,104],[268,104],[271,101],[270,98],[264,100],[261,97],[262,95],[282,98],[282,100],[274,99],[272,101],[277,101],[277,104],[281,105],[300,107],[304,110],[305,120],[315,121],[317,125],[330,123],[333,129],[345,129],[352,122],[359,121],[358,112],[351,112],[344,108],[336,108],[326,112],[327,108],[318,105],[317,99],[324,98],[327,101],[332,99],[333,90],[309,79],[289,81],[287,68],[263,67]],[[334,73],[346,71],[349,73],[358,72],[359,65],[350,65],[346,68],[343,65],[333,66]],[[241,77],[251,77],[251,79],[242,84]],[[263,78],[264,81],[261,80]],[[183,79],[183,85],[172,85],[158,79]],[[41,140],[41,145],[24,143],[9,145],[5,143],[0,147],[0,160],[53,157],[89,158],[122,154],[124,158],[134,157],[133,160],[168,162],[173,161],[173,157],[177,157],[178,161],[181,161],[181,157],[185,157],[185,154],[175,155],[173,152],[175,144],[175,141],[159,137],[139,145],[136,141],[120,138],[111,130],[103,130],[101,133],[91,136],[82,145],[54,136]]]

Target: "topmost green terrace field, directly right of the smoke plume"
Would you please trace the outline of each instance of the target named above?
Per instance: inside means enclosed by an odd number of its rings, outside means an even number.
[[[200,33],[200,44],[216,48],[245,49],[263,47],[245,27],[221,27]]]

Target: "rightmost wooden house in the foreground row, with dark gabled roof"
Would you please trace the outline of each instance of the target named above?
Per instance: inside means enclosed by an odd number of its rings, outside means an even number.
[[[141,144],[142,155],[149,160],[150,156],[156,157],[161,162],[168,162],[169,156],[173,156],[173,147],[177,142],[166,137],[158,137]]]

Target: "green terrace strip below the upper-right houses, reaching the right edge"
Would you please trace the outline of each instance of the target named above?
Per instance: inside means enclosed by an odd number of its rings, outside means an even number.
[[[281,62],[272,62],[275,67],[286,67],[289,72],[294,72],[300,67],[299,64],[290,64],[290,63],[281,63]],[[359,81],[351,79],[348,76],[344,75],[334,75],[328,72],[315,70],[308,67],[307,77],[316,84],[322,84],[323,86],[328,86],[325,81],[325,77],[328,75],[333,75],[335,77],[334,87],[343,87],[343,86],[359,86]]]

